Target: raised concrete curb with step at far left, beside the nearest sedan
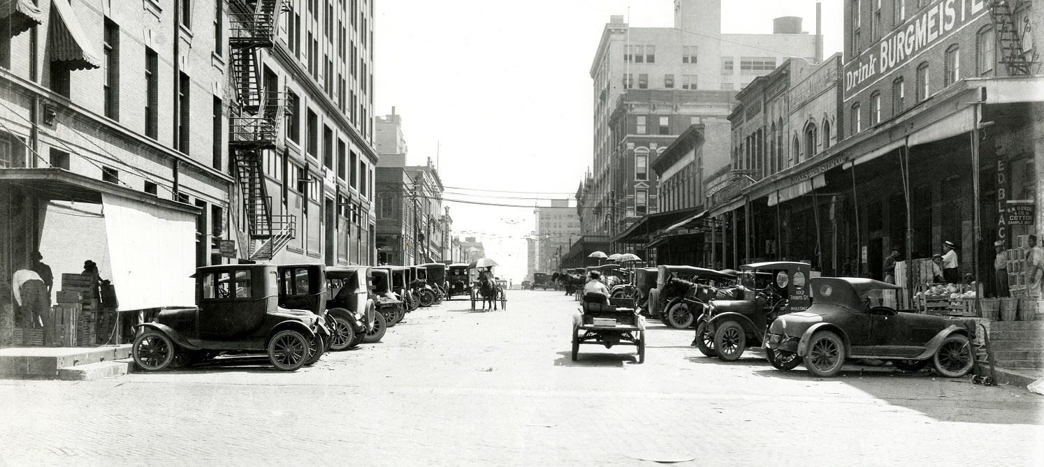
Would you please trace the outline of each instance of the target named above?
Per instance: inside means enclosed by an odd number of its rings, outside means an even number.
[[[60,368],[127,359],[130,344],[0,349],[0,378],[55,378]]]

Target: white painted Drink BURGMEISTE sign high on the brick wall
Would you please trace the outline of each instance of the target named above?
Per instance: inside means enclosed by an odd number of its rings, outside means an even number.
[[[899,27],[884,34],[881,40],[864,50],[856,59],[845,64],[845,99],[873,85],[888,72],[906,65],[934,45],[941,44],[955,31],[986,15],[989,0],[934,0],[920,11],[910,11],[917,2],[906,2],[912,17]],[[861,34],[870,33],[868,11],[863,11]],[[943,56],[945,47],[928,51],[932,56]],[[927,58],[919,58],[921,60]],[[910,76],[908,79],[911,79]],[[907,80],[907,82],[909,82]],[[888,82],[888,85],[892,83]]]

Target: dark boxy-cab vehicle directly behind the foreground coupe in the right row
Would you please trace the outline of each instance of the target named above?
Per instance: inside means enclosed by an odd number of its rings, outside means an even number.
[[[760,347],[778,316],[802,312],[811,303],[811,265],[767,262],[739,267],[741,299],[714,299],[696,324],[693,343],[707,357],[733,362],[748,346]]]

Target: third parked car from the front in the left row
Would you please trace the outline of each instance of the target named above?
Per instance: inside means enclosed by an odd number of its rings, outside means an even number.
[[[384,337],[387,322],[376,311],[370,297],[371,268],[369,266],[327,267],[327,315],[337,323],[331,326],[334,350],[355,347],[362,342],[374,343]],[[343,325],[348,324],[346,328]],[[351,333],[351,334],[349,334]],[[347,339],[346,339],[347,338]],[[342,342],[343,340],[343,342]]]

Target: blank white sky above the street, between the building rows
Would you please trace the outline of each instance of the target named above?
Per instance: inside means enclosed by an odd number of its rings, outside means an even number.
[[[394,105],[402,116],[410,165],[441,147],[447,187],[575,193],[592,159],[591,62],[609,17],[628,7],[635,27],[674,24],[672,0],[376,0],[375,115]],[[784,16],[814,32],[815,0],[722,0],[721,29],[770,33]],[[823,1],[823,29],[825,56],[840,51],[840,0]],[[535,202],[452,193],[445,198]],[[457,235],[484,242],[497,275],[522,280],[532,208],[445,205]]]

